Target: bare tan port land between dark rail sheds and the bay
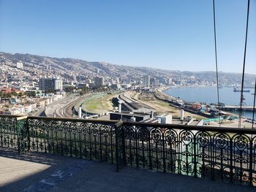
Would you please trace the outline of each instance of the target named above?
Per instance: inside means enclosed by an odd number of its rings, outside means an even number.
[[[186,101],[181,101],[181,99],[166,95],[165,93],[162,93],[162,90],[163,89],[154,91],[126,91],[123,96],[151,107],[151,109],[155,110],[154,112],[157,115],[172,115],[173,124],[182,124],[186,123],[187,119],[193,119],[193,123],[189,123],[189,125],[239,128],[238,115],[235,115],[232,112],[217,110],[216,105],[208,105],[208,111],[213,111],[212,113],[206,111],[201,112],[197,109],[197,106],[202,106],[200,103],[197,102],[196,104],[190,104],[189,106]],[[187,106],[189,106],[189,108],[187,108]],[[181,120],[181,110],[184,110],[184,120]],[[218,111],[220,113],[220,118],[217,115]],[[200,120],[202,120],[201,123],[197,124]],[[252,126],[252,120],[244,117],[241,118],[241,128],[253,127],[256,127],[256,123]]]

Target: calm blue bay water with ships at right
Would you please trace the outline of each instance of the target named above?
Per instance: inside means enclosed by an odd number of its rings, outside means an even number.
[[[244,88],[244,90],[250,90],[249,93],[244,92],[244,105],[253,105],[254,89]],[[217,88],[216,87],[176,87],[169,88],[164,93],[180,97],[185,101],[199,101],[206,103],[217,103]],[[219,102],[226,105],[239,105],[241,92],[233,92],[233,88],[219,88]],[[252,112],[243,112],[243,116],[252,118]],[[255,114],[256,116],[256,114]]]

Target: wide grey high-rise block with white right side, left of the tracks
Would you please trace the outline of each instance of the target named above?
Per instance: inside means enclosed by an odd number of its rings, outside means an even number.
[[[39,89],[47,93],[62,91],[62,80],[59,78],[41,78],[39,79]]]

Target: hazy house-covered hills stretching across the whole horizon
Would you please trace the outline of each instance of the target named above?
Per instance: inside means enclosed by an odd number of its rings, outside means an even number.
[[[143,77],[143,75],[149,74],[151,77],[157,77],[160,80],[166,77],[173,77],[177,80],[189,79],[189,77],[200,81],[214,82],[216,80],[216,72],[181,72],[153,69],[144,66],[122,66],[105,62],[83,61],[77,58],[50,58],[47,56],[20,53],[10,54],[0,52],[0,58],[2,61],[13,64],[21,61],[24,66],[31,67],[31,70],[50,67],[53,74],[58,74],[66,79],[72,79],[72,76],[94,77],[96,75],[102,75],[107,78],[121,77],[122,79],[136,80]],[[42,74],[43,72],[42,70]],[[34,72],[31,73],[33,74]],[[241,83],[241,74],[219,72],[219,81]],[[255,74],[246,74],[247,85],[252,85],[254,81]]]

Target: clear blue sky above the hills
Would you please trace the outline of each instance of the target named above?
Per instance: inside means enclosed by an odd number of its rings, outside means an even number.
[[[256,74],[256,0],[246,72]],[[246,0],[216,0],[219,70],[241,72]],[[212,0],[0,0],[0,51],[212,71]]]

